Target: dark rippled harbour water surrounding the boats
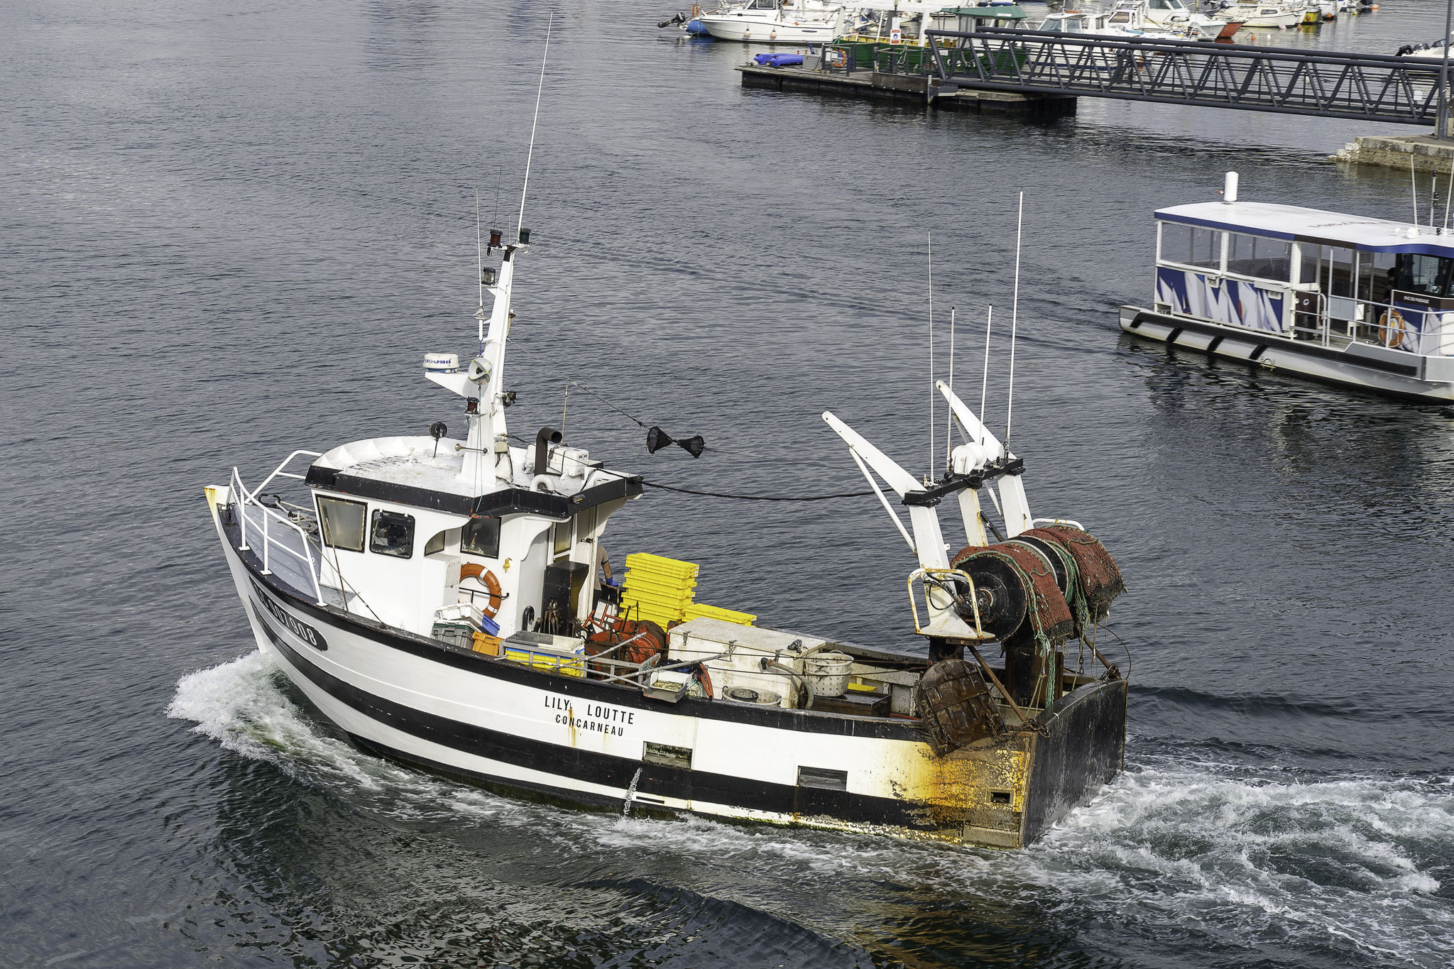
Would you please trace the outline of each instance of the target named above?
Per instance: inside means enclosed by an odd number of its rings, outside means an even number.
[[[10,3],[0,963],[1447,965],[1454,423],[1115,324],[1152,209],[1227,169],[1406,216],[1407,176],[1326,161],[1383,129],[743,90],[746,51],[672,12],[557,12],[513,426],[564,411],[660,484],[855,491],[832,408],[928,471],[928,234],[936,372],[952,305],[979,384],[993,304],[1003,424],[1024,187],[1012,446],[1035,513],[1127,575],[1124,777],[996,853],[561,811],[349,747],[256,654],[201,488],[457,420],[419,362],[473,331],[475,187],[515,218],[547,7]],[[1261,39],[1391,52],[1441,22],[1390,0]],[[647,456],[632,418],[708,452]],[[871,498],[648,490],[608,549],[701,562],[702,600],[763,623],[913,639]]]

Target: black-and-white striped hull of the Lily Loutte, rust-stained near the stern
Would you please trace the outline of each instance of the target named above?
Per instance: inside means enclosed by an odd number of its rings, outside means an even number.
[[[1003,734],[947,757],[910,721],[726,700],[667,705],[313,603],[238,548],[230,513],[218,507],[227,490],[208,488],[208,498],[259,649],[361,747],[403,761],[612,809],[993,847],[1035,840],[1121,770],[1124,680],[1079,687],[1043,718],[1045,735]],[[689,766],[651,761],[647,744],[688,751]],[[1069,782],[1067,755],[1077,764]],[[842,784],[817,786],[814,770],[838,771]],[[984,783],[967,783],[970,770],[989,770],[999,777],[990,786],[1013,798],[1002,802]]]

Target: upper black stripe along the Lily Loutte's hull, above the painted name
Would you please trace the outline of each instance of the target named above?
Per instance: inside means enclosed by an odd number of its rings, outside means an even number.
[[[318,622],[343,628],[349,632],[371,639],[377,644],[398,649],[430,662],[439,662],[457,670],[468,670],[478,676],[506,683],[550,690],[561,696],[579,700],[599,700],[632,710],[662,712],[663,705],[647,700],[637,687],[616,686],[599,680],[577,680],[574,677],[555,676],[532,667],[486,657],[478,652],[455,652],[433,639],[416,636],[398,629],[391,629],[382,623],[371,622],[359,616],[343,612],[333,606],[317,606],[311,597],[305,597],[289,585],[285,585],[276,575],[263,575],[262,562],[252,552],[241,552],[237,548],[236,526],[225,526],[228,543],[233,552],[241,559],[252,577],[269,591],[282,599],[292,609],[313,616]],[[885,721],[869,718],[849,718],[833,715],[817,715],[806,710],[790,710],[781,706],[758,706],[750,703],[731,703],[720,700],[683,699],[676,705],[683,713],[704,721],[731,721],[734,723],[749,723],[752,726],[771,726],[804,734],[838,734],[842,737],[871,737],[875,739],[897,739],[916,744],[926,744],[928,734],[917,722]]]

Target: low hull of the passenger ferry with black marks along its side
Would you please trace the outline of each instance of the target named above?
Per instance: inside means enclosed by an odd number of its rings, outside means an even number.
[[[1349,349],[1291,340],[1266,330],[1121,307],[1121,330],[1178,349],[1253,363],[1325,384],[1355,386],[1428,404],[1454,401],[1454,357],[1426,357],[1378,346]]]

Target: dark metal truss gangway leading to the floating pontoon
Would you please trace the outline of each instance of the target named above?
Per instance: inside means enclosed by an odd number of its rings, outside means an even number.
[[[989,26],[925,36],[878,48],[874,71],[922,76],[931,100],[963,86],[1400,125],[1435,125],[1445,103],[1439,58]]]

